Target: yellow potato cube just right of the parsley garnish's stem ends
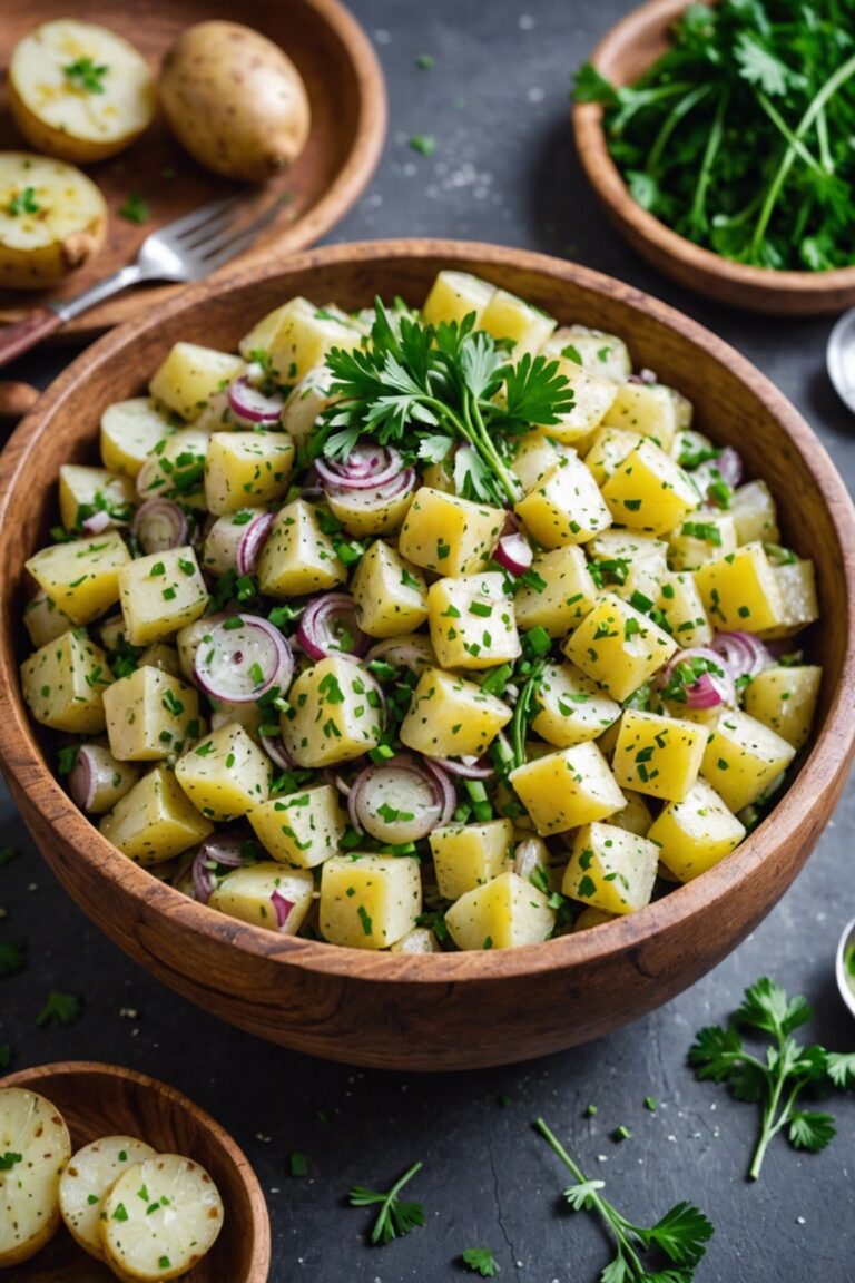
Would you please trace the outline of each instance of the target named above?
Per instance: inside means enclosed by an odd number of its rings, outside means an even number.
[[[578,455],[568,454],[515,504],[517,516],[545,548],[583,544],[611,525],[597,484]]]

